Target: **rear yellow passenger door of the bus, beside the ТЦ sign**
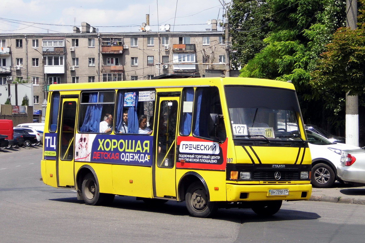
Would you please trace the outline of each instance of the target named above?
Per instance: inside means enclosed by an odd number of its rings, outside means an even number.
[[[58,119],[57,184],[74,186],[74,137],[76,130],[77,98],[62,98],[61,119]]]

